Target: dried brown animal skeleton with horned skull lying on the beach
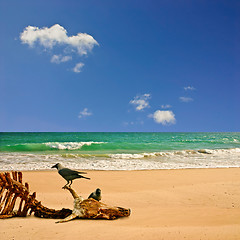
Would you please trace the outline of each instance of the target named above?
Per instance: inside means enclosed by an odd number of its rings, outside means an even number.
[[[0,219],[26,217],[34,212],[41,218],[63,219],[67,222],[74,218],[116,219],[130,215],[130,209],[109,207],[92,198],[84,200],[71,187],[65,187],[74,198],[73,210],[55,210],[44,207],[36,200],[36,192],[30,195],[29,184],[22,183],[22,172],[0,173]],[[18,201],[18,206],[15,206]],[[16,208],[15,208],[16,207]]]

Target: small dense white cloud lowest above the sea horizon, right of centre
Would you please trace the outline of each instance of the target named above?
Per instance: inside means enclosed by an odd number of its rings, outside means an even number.
[[[157,110],[153,114],[148,115],[148,117],[153,118],[156,123],[161,123],[162,125],[176,123],[175,114],[172,111]]]

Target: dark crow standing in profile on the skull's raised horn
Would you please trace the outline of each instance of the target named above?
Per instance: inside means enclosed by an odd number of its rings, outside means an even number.
[[[80,175],[80,174],[86,174],[86,172],[78,172],[69,168],[65,168],[62,166],[61,163],[55,164],[54,166],[52,166],[52,168],[56,168],[58,170],[58,173],[67,181],[67,184],[65,186],[67,186],[70,182],[69,187],[71,187],[72,180],[76,178],[85,178],[90,180],[90,178]]]

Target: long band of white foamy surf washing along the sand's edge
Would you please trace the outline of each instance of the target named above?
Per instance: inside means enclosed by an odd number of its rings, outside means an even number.
[[[70,155],[70,156],[69,156]],[[144,170],[240,167],[240,148],[122,154],[1,153],[0,170],[44,170],[55,163],[73,169]]]

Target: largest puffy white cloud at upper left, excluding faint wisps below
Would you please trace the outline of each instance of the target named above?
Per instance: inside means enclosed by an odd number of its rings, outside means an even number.
[[[65,45],[76,50],[79,55],[86,55],[95,45],[99,45],[98,42],[87,33],[68,36],[67,30],[59,24],[55,24],[50,28],[28,26],[20,34],[20,40],[30,47],[33,47],[35,43],[39,43],[49,49],[52,49],[56,45]]]

